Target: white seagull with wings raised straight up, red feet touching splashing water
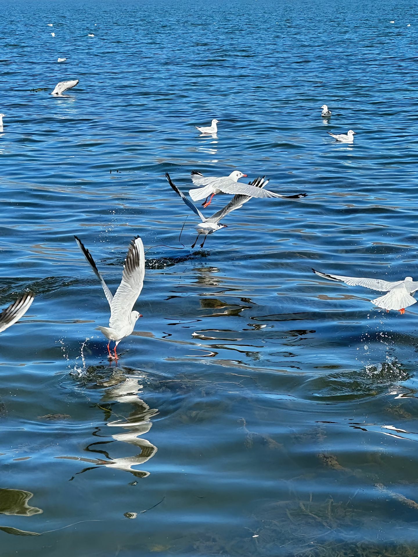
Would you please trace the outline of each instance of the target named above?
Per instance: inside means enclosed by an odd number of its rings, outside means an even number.
[[[118,346],[125,336],[129,336],[132,333],[138,317],[142,317],[138,311],[132,311],[144,284],[145,254],[142,240],[139,236],[136,236],[130,242],[128,255],[123,266],[122,280],[118,286],[118,290],[116,290],[116,294],[113,296],[108,285],[106,285],[103,277],[100,275],[89,250],[82,245],[80,238],[77,238],[77,236],[74,236],[74,238],[80,250],[84,253],[86,260],[90,263],[94,274],[100,280],[101,287],[109,302],[109,327],[99,326],[96,327],[96,329],[101,331],[109,340],[109,358],[117,360],[118,354],[116,354],[116,346]],[[115,341],[114,355],[110,354],[109,344],[111,340]]]

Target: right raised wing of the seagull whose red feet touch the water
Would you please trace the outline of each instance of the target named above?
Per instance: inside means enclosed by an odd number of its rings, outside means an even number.
[[[142,290],[145,275],[144,245],[139,236],[130,242],[128,255],[123,266],[122,280],[110,304],[109,325],[118,328],[126,324]]]

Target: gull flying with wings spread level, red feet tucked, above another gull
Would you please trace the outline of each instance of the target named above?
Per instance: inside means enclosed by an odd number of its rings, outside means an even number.
[[[242,174],[239,170],[234,170],[234,172],[231,172],[229,176],[222,176],[221,178],[217,178],[216,176],[205,178],[203,174],[197,170],[192,170],[191,174],[193,184],[202,185],[203,188],[189,189],[189,196],[193,199],[193,201],[204,199],[206,197],[206,201],[202,203],[202,207],[208,207],[211,204],[213,196],[216,196],[217,193],[240,193],[244,196],[250,197],[288,197],[281,196],[279,193],[270,192],[268,189],[254,187],[251,183],[237,183],[240,178],[246,177],[246,174]],[[211,198],[209,202],[207,202],[207,198],[209,196],[211,196]],[[297,195],[290,197],[305,196],[306,194],[300,194],[300,196]]]

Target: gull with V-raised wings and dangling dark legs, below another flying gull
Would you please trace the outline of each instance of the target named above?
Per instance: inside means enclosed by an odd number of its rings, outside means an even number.
[[[254,196],[246,196],[246,195],[234,196],[231,199],[231,201],[227,204],[226,207],[224,207],[220,211],[217,211],[215,214],[212,214],[211,217],[207,218],[207,217],[203,216],[203,214],[199,211],[199,209],[189,199],[187,199],[187,197],[177,188],[177,186],[172,182],[168,172],[166,172],[166,178],[168,180],[168,183],[173,188],[174,192],[176,192],[177,195],[180,196],[183,199],[184,203],[186,203],[187,207],[191,208],[193,213],[196,213],[197,216],[201,219],[201,222],[199,224],[197,224],[196,227],[195,227],[196,230],[197,230],[197,238],[195,240],[195,243],[193,243],[192,248],[196,246],[196,242],[197,242],[199,236],[201,234],[205,234],[205,240],[203,240],[203,242],[200,245],[200,247],[203,247],[208,234],[213,234],[213,232],[216,232],[217,230],[220,230],[221,228],[227,227],[227,224],[222,224],[220,222],[223,217],[226,217],[226,215],[228,213],[230,213],[231,211],[235,211],[235,209],[239,209],[240,207],[242,207],[242,205],[244,203],[249,201],[251,199],[251,197],[254,197]],[[251,188],[250,188],[251,190],[257,190],[257,189],[264,188],[264,186],[268,183],[269,183],[269,180],[265,180],[264,177],[263,177],[263,178],[256,178],[254,180],[254,182],[252,182],[252,184],[249,184],[249,185],[251,185]],[[242,185],[245,185],[245,184],[242,184]]]

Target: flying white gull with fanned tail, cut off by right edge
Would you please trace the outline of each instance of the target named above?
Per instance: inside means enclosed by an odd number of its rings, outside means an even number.
[[[344,277],[340,275],[328,275],[327,273],[321,273],[312,269],[315,275],[323,278],[328,278],[329,280],[345,282],[349,286],[364,286],[364,288],[370,288],[371,290],[380,290],[381,292],[387,292],[385,296],[380,296],[375,300],[372,300],[372,304],[377,307],[382,307],[382,309],[397,310],[403,315],[405,313],[405,307],[412,306],[416,304],[416,300],[411,294],[414,294],[418,290],[418,282],[414,282],[412,277],[406,277],[404,280],[397,282],[388,282],[386,280],[380,280],[376,278],[356,278],[356,277]]]

